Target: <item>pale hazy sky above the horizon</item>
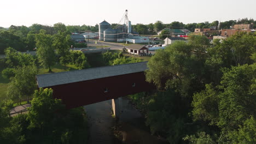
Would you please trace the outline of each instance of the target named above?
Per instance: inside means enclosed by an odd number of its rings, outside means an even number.
[[[1,27],[31,26],[33,23],[53,26],[57,22],[94,26],[103,20],[119,23],[126,9],[133,25],[157,20],[193,23],[245,17],[256,19],[255,0],[1,0],[0,4]]]

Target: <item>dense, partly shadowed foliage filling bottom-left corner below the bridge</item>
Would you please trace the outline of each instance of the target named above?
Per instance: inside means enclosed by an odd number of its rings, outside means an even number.
[[[28,114],[9,117],[12,103],[0,102],[1,143],[85,143],[87,122],[82,108],[66,110],[51,89],[34,93]]]

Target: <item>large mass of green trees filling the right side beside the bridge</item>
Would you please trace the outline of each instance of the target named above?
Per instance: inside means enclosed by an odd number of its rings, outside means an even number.
[[[130,98],[169,143],[256,143],[255,62],[255,34],[213,44],[191,35],[150,58],[146,79],[158,91]]]

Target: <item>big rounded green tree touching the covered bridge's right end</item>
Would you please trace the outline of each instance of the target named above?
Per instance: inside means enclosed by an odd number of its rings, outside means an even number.
[[[148,62],[146,80],[160,89],[172,87],[184,95],[192,96],[195,89],[203,86],[206,57],[204,53],[193,53],[192,50],[193,46],[184,41],[177,41],[165,50],[158,50]]]

